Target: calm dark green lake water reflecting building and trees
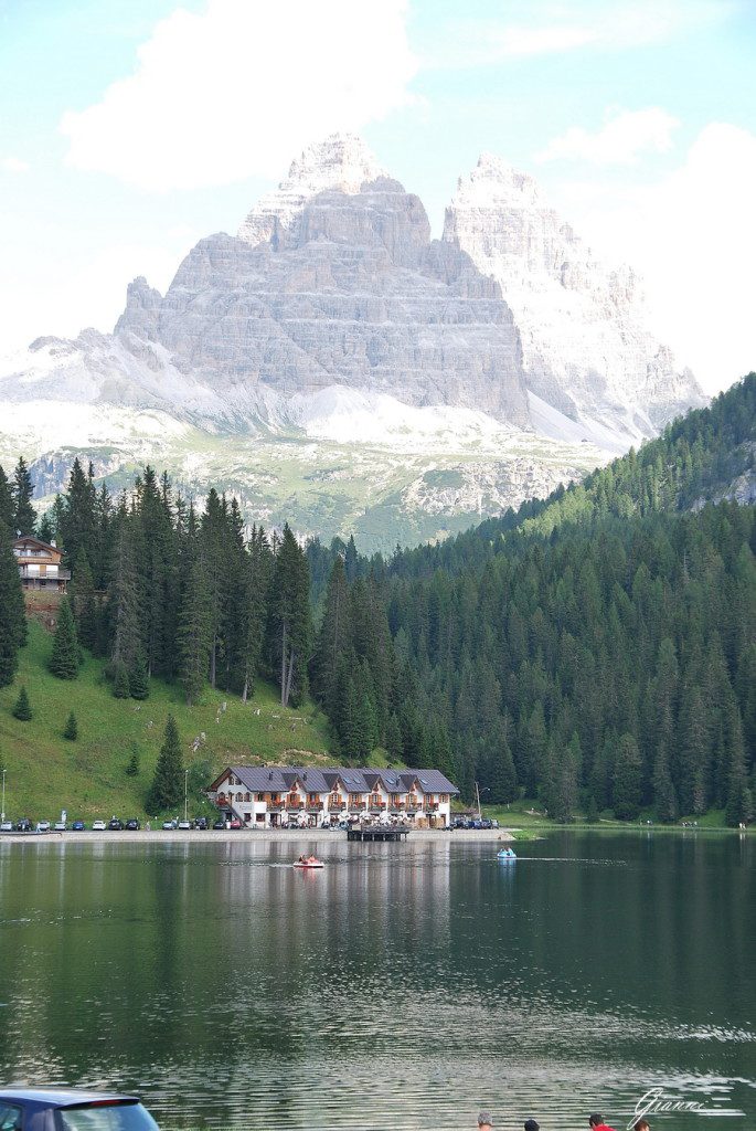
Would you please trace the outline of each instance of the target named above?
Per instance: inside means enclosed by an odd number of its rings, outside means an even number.
[[[756,843],[0,845],[0,1079],[164,1128],[756,1124]],[[527,858],[524,858],[527,857]]]

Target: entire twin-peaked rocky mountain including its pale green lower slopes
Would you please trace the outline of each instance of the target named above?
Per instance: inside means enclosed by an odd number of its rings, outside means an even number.
[[[363,143],[311,146],[236,236],[165,295],[128,288],[112,335],[38,338],[0,371],[0,455],[166,465],[251,518],[396,544],[460,528],[653,434],[701,402],[607,273],[492,158],[441,240]]]

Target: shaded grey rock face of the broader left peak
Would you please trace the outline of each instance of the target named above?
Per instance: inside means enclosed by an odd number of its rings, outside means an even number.
[[[200,241],[165,299],[136,280],[116,335],[132,349],[159,343],[241,415],[264,415],[268,390],[344,385],[528,428],[519,335],[498,285],[431,240],[423,205],[397,181],[355,188],[353,169],[373,170],[339,152],[346,165],[327,147],[319,174],[336,187],[305,197],[286,182],[240,238]],[[306,170],[312,179],[312,155]]]

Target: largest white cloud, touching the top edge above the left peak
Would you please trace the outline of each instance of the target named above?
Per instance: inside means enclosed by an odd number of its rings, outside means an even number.
[[[67,161],[144,189],[275,176],[310,141],[409,100],[406,0],[208,0],[177,9],[136,71],[63,115]]]

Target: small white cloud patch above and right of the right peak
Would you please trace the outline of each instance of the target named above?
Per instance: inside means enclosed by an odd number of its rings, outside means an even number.
[[[593,165],[632,165],[642,153],[667,153],[672,147],[677,118],[666,110],[615,111],[596,133],[573,126],[549,141],[536,161],[588,161]]]

